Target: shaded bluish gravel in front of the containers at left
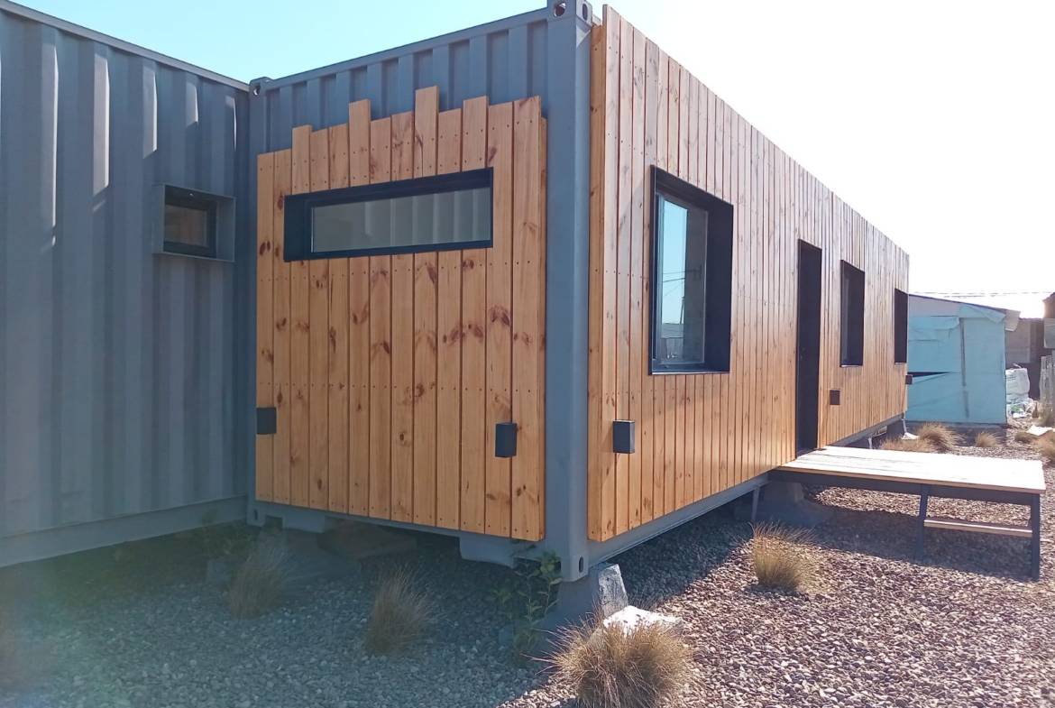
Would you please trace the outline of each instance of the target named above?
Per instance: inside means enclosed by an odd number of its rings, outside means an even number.
[[[137,552],[143,558],[120,561],[128,567],[122,579],[158,570],[150,548]],[[442,631],[406,656],[372,657],[362,650],[370,589],[394,563],[421,569],[442,598]],[[36,573],[21,585],[36,591],[41,577],[49,583],[55,575]],[[200,569],[121,588],[114,598],[92,592],[71,600],[75,589],[63,587],[28,601],[17,636],[34,656],[23,668],[39,675],[6,692],[0,681],[0,706],[495,706],[536,681],[534,670],[509,661],[499,642],[503,620],[481,592],[509,576],[459,560],[447,539],[424,536],[416,555],[367,561],[360,575],[313,582],[257,619],[233,619]],[[34,599],[27,594],[20,593],[21,602]]]

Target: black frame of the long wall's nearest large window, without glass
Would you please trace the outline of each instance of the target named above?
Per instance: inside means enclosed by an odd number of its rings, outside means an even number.
[[[649,292],[649,374],[727,374],[732,343],[732,247],[733,215],[731,204],[698,187],[652,166],[652,244],[650,272],[653,287]],[[708,214],[707,246],[704,255],[704,359],[696,362],[665,363],[659,353],[657,326],[661,278],[659,244],[660,199],[702,209]]]

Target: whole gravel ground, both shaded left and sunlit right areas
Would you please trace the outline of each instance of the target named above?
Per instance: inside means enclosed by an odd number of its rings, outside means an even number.
[[[957,452],[1033,456],[1010,438]],[[1046,476],[1051,489],[1055,472]],[[1027,578],[1021,539],[935,532],[921,565],[913,497],[829,489],[816,498],[835,514],[813,532],[820,578],[805,596],[753,585],[750,529],[729,509],[616,559],[631,602],[686,621],[695,667],[676,706],[1055,706],[1051,495],[1041,582]],[[1015,506],[935,505],[1024,520]],[[230,617],[179,541],[122,548],[0,574],[0,609],[17,618],[7,642],[31,674],[14,686],[0,675],[0,707],[574,705],[567,686],[509,659],[486,589],[510,571],[461,561],[445,539],[422,537],[415,555],[315,582],[254,620]],[[408,656],[368,657],[369,589],[394,562],[419,568],[443,620]]]

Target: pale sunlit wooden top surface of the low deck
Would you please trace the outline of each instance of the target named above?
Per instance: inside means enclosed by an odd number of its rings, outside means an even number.
[[[1036,460],[1005,460],[863,447],[822,447],[779,467],[859,479],[1040,494],[1043,470]]]

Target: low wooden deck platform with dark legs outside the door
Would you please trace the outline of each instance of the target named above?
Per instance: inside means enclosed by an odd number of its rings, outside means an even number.
[[[769,473],[772,481],[916,494],[920,497],[919,553],[927,529],[1000,534],[1030,541],[1030,569],[1040,577],[1040,497],[1043,467],[1038,460],[1006,460],[933,453],[822,447]],[[1030,508],[1030,525],[927,517],[931,497],[951,497]]]

